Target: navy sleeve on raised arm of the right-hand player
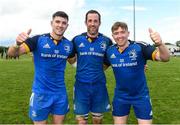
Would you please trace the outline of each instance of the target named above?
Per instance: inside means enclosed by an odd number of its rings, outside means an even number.
[[[142,48],[143,56],[146,60],[153,60],[152,54],[155,51],[155,47],[151,46],[150,44],[141,42],[139,45]]]

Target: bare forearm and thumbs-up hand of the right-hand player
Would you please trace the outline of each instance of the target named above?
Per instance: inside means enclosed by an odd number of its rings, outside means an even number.
[[[158,47],[156,55],[155,55],[155,59],[157,61],[163,61],[163,62],[169,61],[169,58],[170,58],[169,50],[166,48],[166,46],[162,42],[162,39],[159,33],[152,31],[152,29],[149,29],[149,33],[150,33],[150,37],[152,41]]]

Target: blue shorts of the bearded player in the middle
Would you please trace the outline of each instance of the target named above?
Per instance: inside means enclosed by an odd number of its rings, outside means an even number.
[[[110,110],[109,96],[105,83],[80,83],[74,85],[74,113],[103,113]]]

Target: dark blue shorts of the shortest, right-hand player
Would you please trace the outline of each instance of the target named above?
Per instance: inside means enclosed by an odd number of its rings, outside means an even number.
[[[149,96],[140,97],[137,99],[124,99],[114,97],[113,99],[113,116],[129,115],[131,106],[134,109],[136,118],[150,120],[152,119],[152,106]]]

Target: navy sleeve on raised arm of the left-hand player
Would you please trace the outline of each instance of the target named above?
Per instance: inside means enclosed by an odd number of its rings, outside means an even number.
[[[38,39],[39,39],[39,35],[28,38],[25,43],[26,45],[29,47],[30,51],[34,51],[37,47],[37,43],[38,43]]]

